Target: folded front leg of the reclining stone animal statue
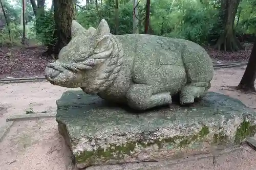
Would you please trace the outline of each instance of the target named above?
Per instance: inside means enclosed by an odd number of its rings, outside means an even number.
[[[146,110],[156,106],[172,104],[169,92],[155,93],[155,87],[134,84],[126,93],[127,104],[136,110]]]

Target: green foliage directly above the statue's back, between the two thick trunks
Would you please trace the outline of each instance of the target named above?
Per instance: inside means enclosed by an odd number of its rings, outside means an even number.
[[[111,3],[112,2],[112,3]],[[106,2],[99,9],[90,6],[80,11],[77,20],[85,28],[97,27],[101,18],[108,21],[111,32],[115,28],[115,4]],[[204,1],[202,1],[204,2]],[[151,34],[184,38],[200,44],[207,43],[220,35],[216,28],[219,22],[219,11],[210,4],[195,1],[152,1],[151,3]],[[216,6],[216,4],[215,4]],[[139,4],[140,33],[144,29],[144,4]],[[119,4],[119,34],[131,34],[133,31],[133,2]]]

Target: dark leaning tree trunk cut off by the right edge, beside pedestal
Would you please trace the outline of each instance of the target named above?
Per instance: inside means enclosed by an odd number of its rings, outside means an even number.
[[[255,92],[254,82],[256,78],[256,39],[252,47],[251,55],[241,82],[237,89]]]

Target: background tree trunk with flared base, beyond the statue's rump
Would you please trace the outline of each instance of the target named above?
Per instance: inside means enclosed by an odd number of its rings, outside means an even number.
[[[239,51],[243,47],[234,33],[234,18],[238,10],[240,0],[222,0],[223,34],[219,37],[215,48],[224,51]]]

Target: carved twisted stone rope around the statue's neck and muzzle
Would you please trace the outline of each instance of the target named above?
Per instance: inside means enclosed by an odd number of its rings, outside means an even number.
[[[86,72],[87,70],[93,69],[96,65],[104,64],[104,66],[101,67],[103,69],[98,71],[98,76],[95,78],[94,82],[92,82],[90,88],[83,88],[84,92],[87,91],[86,89],[90,89],[90,91],[98,93],[113,83],[118,76],[123,63],[123,50],[121,44],[114,35],[110,34],[108,36],[110,36],[110,43],[106,50],[97,52],[92,49],[89,52],[91,55],[83,61],[76,63],[50,63],[48,66],[60,72],[68,69],[78,73],[79,71]],[[104,36],[102,38],[104,38]]]

